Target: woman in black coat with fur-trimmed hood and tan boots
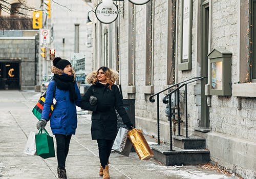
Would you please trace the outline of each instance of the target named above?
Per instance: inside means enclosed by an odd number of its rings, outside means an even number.
[[[117,134],[115,109],[123,123],[130,129],[133,127],[123,107],[119,88],[114,84],[115,77],[118,78],[118,73],[105,66],[88,75],[87,81],[92,85],[80,102],[82,109],[93,111],[91,134],[92,139],[97,140],[98,143],[101,164],[99,175],[103,176],[103,179],[110,178],[108,161]]]

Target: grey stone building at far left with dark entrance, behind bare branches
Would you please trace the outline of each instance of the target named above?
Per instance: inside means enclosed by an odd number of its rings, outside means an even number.
[[[38,30],[32,29],[36,1],[1,1],[0,89],[34,89],[38,83]]]

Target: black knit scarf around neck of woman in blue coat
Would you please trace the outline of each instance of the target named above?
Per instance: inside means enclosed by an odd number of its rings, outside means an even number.
[[[75,91],[75,81],[74,76],[68,75],[53,75],[53,80],[56,82],[56,85],[59,89],[64,91],[69,91],[69,99],[71,102],[77,100],[76,91]]]

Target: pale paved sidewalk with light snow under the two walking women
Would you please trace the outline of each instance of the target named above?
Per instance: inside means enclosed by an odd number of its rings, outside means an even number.
[[[33,91],[0,91],[0,179],[57,178],[56,158],[44,160],[40,156],[23,154],[29,132],[37,131],[37,119],[31,110],[39,96]],[[69,179],[102,178],[98,175],[98,149],[96,141],[91,140],[90,127],[91,116],[78,115],[76,135],[71,139],[66,162]],[[49,124],[46,129],[52,135]],[[146,139],[150,144],[156,142],[155,139]],[[112,152],[110,176],[113,179],[237,178],[202,166],[164,166],[154,159],[141,161],[135,152],[129,157]]]

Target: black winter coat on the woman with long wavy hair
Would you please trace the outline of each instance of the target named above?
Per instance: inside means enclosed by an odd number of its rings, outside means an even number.
[[[112,90],[111,90],[112,89]],[[121,94],[117,85],[112,85],[111,89],[108,84],[105,86],[99,82],[92,85],[81,99],[80,106],[82,109],[91,110],[92,139],[114,140],[117,133],[117,116],[115,109],[123,120],[123,123],[130,122],[130,119],[123,107]],[[89,102],[90,96],[95,96],[96,105]]]

